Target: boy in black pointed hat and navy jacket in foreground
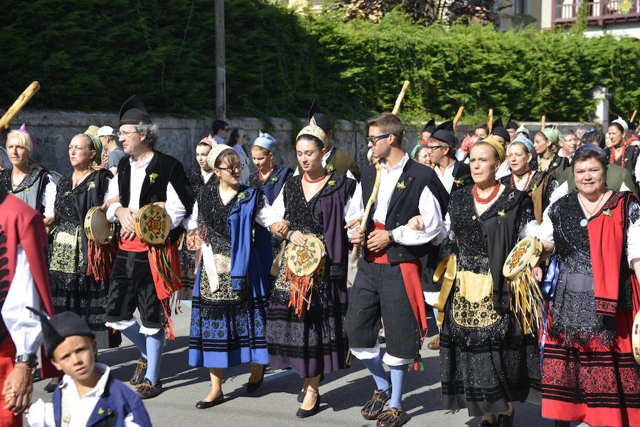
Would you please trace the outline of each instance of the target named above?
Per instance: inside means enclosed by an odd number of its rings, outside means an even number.
[[[118,426],[151,427],[139,396],[112,377],[106,364],[96,363],[95,335],[70,311],[41,318],[46,355],[65,373],[53,391],[53,404],[41,399],[31,405],[31,427]]]

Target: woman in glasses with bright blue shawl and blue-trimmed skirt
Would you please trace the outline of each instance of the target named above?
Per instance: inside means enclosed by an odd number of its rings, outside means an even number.
[[[247,392],[265,375],[269,354],[265,341],[271,288],[271,239],[283,232],[262,190],[240,184],[242,162],[224,144],[213,144],[207,163],[215,178],[196,197],[185,220],[189,232],[203,230],[191,306],[189,364],[209,369],[211,389],[196,404],[206,409],[224,400],[223,369],[251,362]]]

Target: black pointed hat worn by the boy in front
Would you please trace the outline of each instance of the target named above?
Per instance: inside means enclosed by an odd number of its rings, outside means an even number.
[[[45,347],[45,355],[49,358],[53,357],[53,350],[60,345],[66,337],[73,335],[85,335],[95,338],[95,333],[89,328],[87,322],[73,313],[73,311],[63,311],[54,315],[52,318],[32,307],[27,307],[40,318],[42,325],[42,336]]]

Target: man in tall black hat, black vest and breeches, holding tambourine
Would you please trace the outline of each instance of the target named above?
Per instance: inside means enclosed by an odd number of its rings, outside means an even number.
[[[171,333],[169,298],[182,287],[176,241],[182,229],[183,217],[191,213],[193,191],[176,158],[156,151],[156,126],[135,95],[120,109],[118,135],[124,153],[117,175],[111,180],[105,200],[119,198],[107,208],[107,219],[119,222],[120,242],[113,264],[107,323],[120,330],[140,352],[131,383],[137,385],[142,399],[155,397],[162,391],[159,377],[164,344],[164,329]],[[156,257],[149,245],[135,232],[138,210],[154,203],[166,210],[171,220],[171,232],[164,249],[171,260],[173,274],[154,274],[163,266],[156,265]],[[140,313],[139,325],[133,313]]]

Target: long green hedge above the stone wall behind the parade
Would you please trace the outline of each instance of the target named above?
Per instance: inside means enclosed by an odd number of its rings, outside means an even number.
[[[1,106],[39,80],[29,107],[114,111],[137,93],[151,112],[213,114],[213,0],[5,4]],[[317,98],[334,117],[364,119],[389,110],[405,79],[402,115],[414,120],[452,117],[464,104],[466,121],[489,108],[583,121],[597,84],[612,91],[614,114],[640,104],[636,39],[424,27],[397,11],[378,24],[343,23],[257,0],[228,0],[225,9],[230,115],[302,117]]]

